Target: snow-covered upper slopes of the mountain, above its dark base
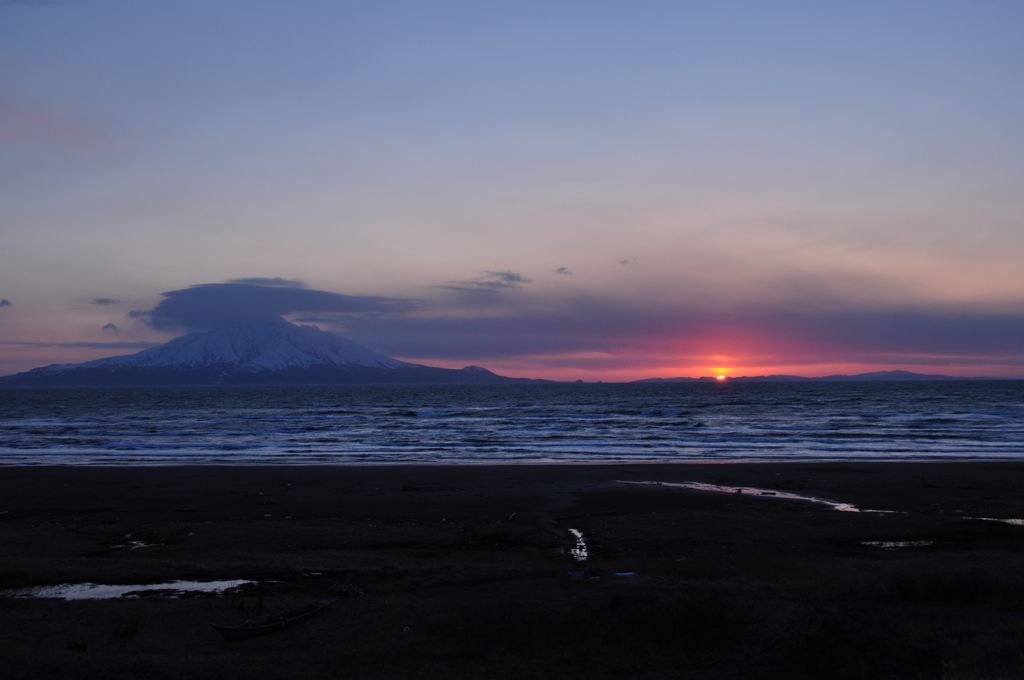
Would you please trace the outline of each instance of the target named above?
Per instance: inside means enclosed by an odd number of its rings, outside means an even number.
[[[267,318],[236,322],[209,333],[191,333],[137,354],[50,369],[229,367],[234,371],[261,373],[325,365],[374,369],[417,366],[390,358],[313,326],[296,326],[283,318]]]

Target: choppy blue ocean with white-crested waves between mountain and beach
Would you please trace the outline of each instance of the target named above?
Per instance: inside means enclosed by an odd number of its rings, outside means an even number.
[[[0,465],[1022,457],[1009,380],[0,390]]]

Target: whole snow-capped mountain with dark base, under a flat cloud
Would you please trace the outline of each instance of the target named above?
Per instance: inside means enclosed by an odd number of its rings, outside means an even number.
[[[56,364],[0,378],[0,386],[330,383],[481,383],[511,378],[409,364],[313,326],[281,317],[234,322],[137,354]]]

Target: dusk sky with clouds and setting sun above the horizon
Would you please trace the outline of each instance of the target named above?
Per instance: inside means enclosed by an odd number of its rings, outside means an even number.
[[[1024,378],[1024,3],[0,0],[0,375],[281,314]]]

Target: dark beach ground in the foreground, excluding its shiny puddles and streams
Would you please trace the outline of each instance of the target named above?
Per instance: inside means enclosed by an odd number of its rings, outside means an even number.
[[[1024,526],[969,519],[1024,518],[1024,464],[0,468],[0,589],[257,582],[0,596],[11,680],[1024,677]]]

